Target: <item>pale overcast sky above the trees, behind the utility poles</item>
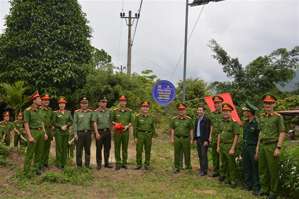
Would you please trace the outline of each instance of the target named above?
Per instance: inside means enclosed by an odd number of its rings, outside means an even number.
[[[126,16],[129,10],[134,15],[140,1],[81,0],[79,3],[94,30],[92,45],[108,52],[115,66],[126,66],[128,26],[125,19],[120,19],[120,12],[123,8]],[[161,68],[132,52],[132,73],[151,69],[158,78],[170,80],[184,50],[185,5],[184,0],[143,1],[132,51]],[[0,7],[2,33],[3,18],[9,13],[10,4],[0,0]],[[188,37],[202,7],[189,7]],[[299,1],[226,0],[206,4],[188,43],[187,77],[206,82],[228,80],[222,66],[211,57],[213,53],[207,44],[212,38],[231,57],[238,57],[244,67],[277,48],[291,50],[299,45]],[[171,79],[174,84],[183,78],[183,58]]]

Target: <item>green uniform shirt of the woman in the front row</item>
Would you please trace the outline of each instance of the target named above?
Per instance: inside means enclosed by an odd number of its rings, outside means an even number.
[[[73,117],[71,116],[71,112],[64,110],[64,114],[61,113],[60,110],[53,112],[52,123],[55,127],[55,135],[66,136],[69,135],[68,128],[66,130],[62,130],[63,126],[71,126],[73,124]]]

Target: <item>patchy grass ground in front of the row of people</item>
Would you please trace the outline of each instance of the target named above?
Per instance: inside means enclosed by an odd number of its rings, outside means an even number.
[[[27,180],[22,176],[24,157],[14,156],[13,166],[0,169],[0,195],[1,198],[265,198],[242,191],[242,184],[231,189],[229,185],[219,184],[216,178],[197,177],[199,162],[195,150],[191,159],[192,174],[185,170],[173,174],[173,145],[168,136],[160,135],[152,145],[152,172],[144,168],[116,171],[115,167],[77,171],[70,163],[64,172],[52,169],[39,177],[32,174],[31,180]],[[135,158],[129,159],[129,166],[135,166]]]

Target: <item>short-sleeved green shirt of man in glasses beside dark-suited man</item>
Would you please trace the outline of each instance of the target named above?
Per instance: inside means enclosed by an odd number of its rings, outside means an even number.
[[[176,136],[190,136],[190,130],[194,128],[193,121],[184,116],[181,119],[179,116],[176,116],[172,119],[169,127],[174,129],[174,135]]]

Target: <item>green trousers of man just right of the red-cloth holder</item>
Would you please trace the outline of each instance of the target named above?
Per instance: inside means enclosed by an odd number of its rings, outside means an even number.
[[[152,133],[137,132],[136,163],[139,167],[142,167],[143,146],[145,151],[144,167],[149,168],[150,151],[152,149]]]

